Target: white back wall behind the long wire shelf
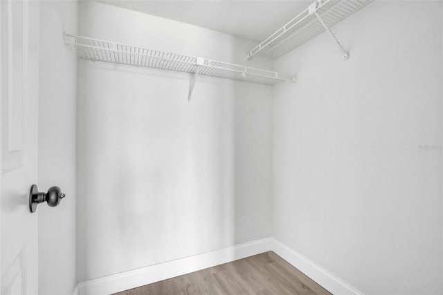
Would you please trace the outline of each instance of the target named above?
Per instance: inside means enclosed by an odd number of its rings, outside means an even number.
[[[246,62],[252,42],[80,3],[80,35]],[[271,67],[255,59],[248,66]],[[80,60],[78,279],[271,236],[271,87]]]

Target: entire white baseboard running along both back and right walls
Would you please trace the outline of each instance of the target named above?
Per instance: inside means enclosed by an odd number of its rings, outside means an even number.
[[[223,263],[246,258],[267,251],[274,251],[278,256],[289,262],[302,273],[306,274],[319,285],[332,294],[363,295],[358,289],[345,283],[340,278],[329,273],[322,267],[308,260],[297,251],[287,247],[274,238],[257,240],[245,244],[239,244],[221,250],[210,251],[195,256],[189,256],[177,260],[163,262],[158,265],[150,265],[141,269],[125,271],[120,274],[96,278],[79,283],[75,288],[74,295],[98,295],[113,294],[127,289],[174,278],[192,271],[199,271],[208,267],[214,267]]]

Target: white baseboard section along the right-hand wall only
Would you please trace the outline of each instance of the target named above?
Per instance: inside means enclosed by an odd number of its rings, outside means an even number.
[[[303,274],[309,276],[318,285],[327,289],[332,294],[356,294],[363,295],[358,289],[352,287],[351,285],[345,283],[340,278],[337,278],[333,274],[329,273],[322,267],[316,265],[311,260],[305,258],[297,251],[287,247],[282,242],[272,239],[272,251],[278,256],[289,262],[293,267],[296,267]]]

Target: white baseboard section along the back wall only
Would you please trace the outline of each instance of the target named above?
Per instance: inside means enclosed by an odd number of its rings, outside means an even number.
[[[208,267],[215,267],[223,263],[246,258],[256,254],[270,251],[273,244],[272,238],[239,244],[217,251],[198,254],[186,258],[163,262],[158,265],[150,265],[141,269],[125,271],[120,274],[87,280],[78,284],[75,288],[80,295],[113,294],[127,289],[158,282],[199,271]]]

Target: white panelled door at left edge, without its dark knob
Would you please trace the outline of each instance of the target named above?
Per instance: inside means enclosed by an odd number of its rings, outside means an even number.
[[[0,0],[1,294],[37,294],[39,3]]]

